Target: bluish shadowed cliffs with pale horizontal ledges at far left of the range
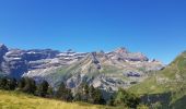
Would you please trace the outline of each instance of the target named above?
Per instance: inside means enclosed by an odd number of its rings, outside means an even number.
[[[11,77],[20,78],[26,72],[70,64],[86,53],[71,50],[59,52],[51,49],[8,49],[0,45],[0,71]]]

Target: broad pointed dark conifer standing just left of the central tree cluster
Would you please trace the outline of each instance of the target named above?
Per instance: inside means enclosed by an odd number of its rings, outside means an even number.
[[[61,100],[66,100],[66,101],[73,100],[71,89],[67,88],[66,85],[63,84],[63,82],[60,84],[60,86],[57,90],[56,97]]]

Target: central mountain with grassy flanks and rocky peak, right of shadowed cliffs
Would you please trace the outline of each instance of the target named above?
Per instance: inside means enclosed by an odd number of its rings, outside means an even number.
[[[141,82],[149,71],[162,69],[159,61],[149,61],[142,53],[130,53],[124,48],[113,52],[91,52],[81,60],[61,68],[34,70],[24,76],[43,77],[53,86],[63,81],[70,88],[88,82],[104,90],[117,90],[118,87]]]

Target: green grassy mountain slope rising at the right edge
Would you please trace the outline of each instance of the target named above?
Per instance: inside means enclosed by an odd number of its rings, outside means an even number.
[[[174,109],[186,108],[186,52],[181,53],[164,70],[155,73],[140,84],[130,88],[131,92],[138,94],[168,94],[166,102],[167,107]],[[165,97],[165,96],[164,96]],[[153,97],[152,97],[153,99]],[[162,100],[162,99],[161,99]],[[159,99],[159,101],[161,101]],[[150,100],[149,100],[150,101]],[[155,102],[155,101],[153,101]],[[163,100],[162,100],[163,102]]]

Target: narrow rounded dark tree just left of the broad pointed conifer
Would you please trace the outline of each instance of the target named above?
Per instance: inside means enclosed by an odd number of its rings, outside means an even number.
[[[43,81],[37,87],[37,95],[45,97],[48,92],[48,86],[49,86],[48,82]]]

